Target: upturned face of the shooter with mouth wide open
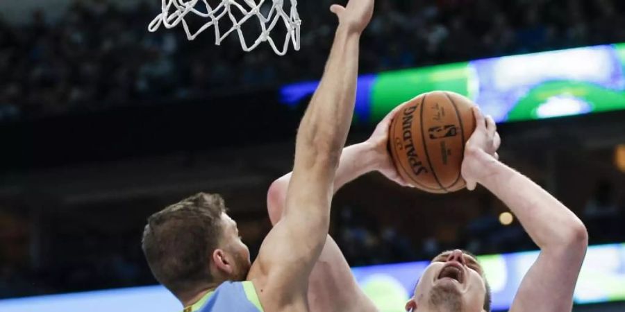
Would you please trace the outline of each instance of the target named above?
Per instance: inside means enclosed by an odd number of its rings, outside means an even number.
[[[452,258],[439,256],[430,263],[406,304],[408,311],[483,311],[486,286],[481,267]]]

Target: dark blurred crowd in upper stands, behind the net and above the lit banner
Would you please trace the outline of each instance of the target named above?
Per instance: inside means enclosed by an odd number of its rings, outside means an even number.
[[[182,29],[149,33],[158,1],[132,9],[76,1],[49,21],[0,17],[0,121],[203,98],[319,78],[333,37],[332,1],[299,3],[301,51],[244,53],[231,36],[188,42]],[[361,72],[572,46],[625,42],[615,0],[378,0],[363,36]],[[277,36],[283,34],[276,31]]]

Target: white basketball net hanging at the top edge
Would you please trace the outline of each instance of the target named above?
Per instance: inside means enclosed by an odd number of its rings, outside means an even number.
[[[253,50],[261,42],[269,42],[272,49],[274,49],[278,55],[285,55],[289,42],[293,42],[294,49],[299,50],[299,27],[301,20],[297,14],[297,0],[290,0],[291,12],[289,15],[287,15],[283,10],[283,3],[285,0],[271,0],[272,8],[267,13],[267,16],[260,12],[260,7],[263,6],[265,0],[239,0],[244,4],[239,4],[235,0],[219,0],[221,3],[219,3],[219,5],[215,8],[208,4],[208,0],[161,1],[162,12],[155,19],[153,19],[153,21],[151,21],[148,26],[148,30],[150,32],[158,30],[160,24],[163,24],[165,28],[174,28],[176,25],[182,23],[183,28],[185,28],[185,33],[187,33],[188,40],[194,40],[200,33],[213,26],[213,29],[215,30],[215,44],[217,45],[228,37],[228,35],[236,31],[239,35],[241,46],[246,52]],[[254,3],[254,1],[259,2]],[[196,9],[196,5],[198,3],[200,3],[200,6],[202,3],[203,6],[206,6],[206,12],[201,12]],[[189,13],[197,15],[201,18],[208,18],[210,20],[207,21],[206,24],[203,24],[203,26],[201,26],[195,33],[191,33],[187,21],[185,21],[185,17]],[[235,15],[242,17],[237,19]],[[226,20],[228,21],[228,24],[232,24],[232,27],[225,33],[220,33],[219,31],[219,20],[221,19],[228,19]],[[260,25],[261,33],[258,38],[256,38],[256,41],[249,46],[243,37],[241,25],[246,21],[253,22],[254,20],[256,20],[256,22]],[[282,49],[278,49],[276,42],[274,42],[272,37],[269,36],[278,22],[283,22],[287,29],[285,41],[281,47]]]

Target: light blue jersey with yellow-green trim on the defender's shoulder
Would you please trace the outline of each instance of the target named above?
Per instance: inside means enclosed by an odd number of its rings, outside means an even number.
[[[226,281],[183,312],[263,312],[251,281]]]

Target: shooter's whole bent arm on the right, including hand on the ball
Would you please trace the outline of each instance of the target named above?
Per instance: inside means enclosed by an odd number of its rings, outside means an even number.
[[[519,218],[540,255],[524,277],[510,311],[571,311],[573,291],[588,234],[572,211],[489,151],[499,146],[494,121],[478,110],[476,132],[467,141],[462,176],[472,189],[482,184]],[[497,148],[494,148],[495,150]]]

